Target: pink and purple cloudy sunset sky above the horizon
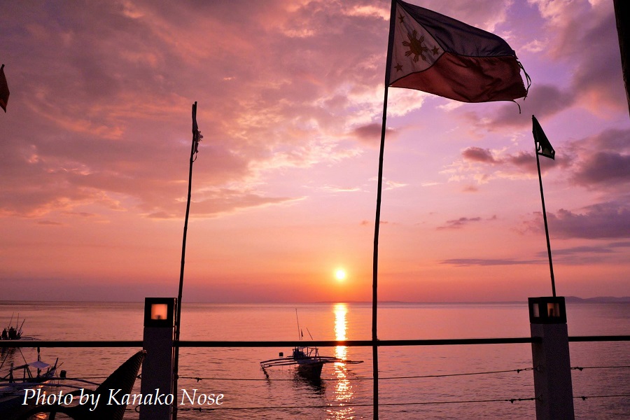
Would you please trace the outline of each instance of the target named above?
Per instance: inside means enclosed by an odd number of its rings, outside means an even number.
[[[390,88],[379,300],[630,295],[612,1],[410,1],[507,41],[526,99]],[[372,300],[390,3],[3,1],[0,300]],[[343,270],[343,279],[337,271]]]

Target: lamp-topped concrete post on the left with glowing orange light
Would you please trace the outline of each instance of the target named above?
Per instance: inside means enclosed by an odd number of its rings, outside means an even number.
[[[172,419],[172,405],[177,396],[173,390],[175,304],[175,297],[146,297],[144,302],[146,358],[142,363],[140,392],[143,397],[153,395],[153,398],[151,404],[139,406],[140,420]],[[156,403],[160,395],[160,403]]]

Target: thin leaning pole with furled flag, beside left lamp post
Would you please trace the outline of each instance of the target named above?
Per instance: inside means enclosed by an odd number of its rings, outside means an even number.
[[[181,325],[181,294],[183,291],[183,273],[186,262],[186,233],[188,232],[188,215],[190,214],[190,191],[193,186],[193,162],[197,158],[197,149],[202,135],[197,126],[197,102],[193,104],[193,146],[190,148],[190,169],[188,169],[188,200],[186,201],[186,218],[184,218],[183,239],[181,244],[181,269],[179,271],[179,292],[177,293],[177,314],[175,317],[175,354],[173,363],[173,392],[177,395],[177,378],[179,376],[179,331]],[[173,405],[172,420],[177,419],[177,404]]]

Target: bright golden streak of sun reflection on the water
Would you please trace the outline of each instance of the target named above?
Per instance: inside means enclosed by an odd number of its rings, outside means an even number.
[[[333,309],[335,313],[335,339],[342,340],[346,338],[347,321],[346,314],[348,313],[348,307],[344,303],[337,303]],[[348,348],[346,346],[335,347],[335,357],[339,359],[347,358]],[[335,384],[334,401],[335,405],[339,406],[335,409],[328,409],[330,418],[342,420],[353,419],[354,409],[353,407],[345,407],[353,399],[353,390],[351,381],[348,380],[348,369],[346,363],[335,362],[335,377],[337,382]]]

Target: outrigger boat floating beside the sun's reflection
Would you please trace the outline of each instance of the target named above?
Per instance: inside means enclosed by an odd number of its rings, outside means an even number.
[[[295,309],[295,318],[297,319],[297,309]],[[307,328],[307,332],[311,332]],[[300,330],[300,320],[297,320],[297,333],[300,340],[304,337],[304,333]],[[311,336],[311,339],[313,337]],[[317,347],[311,346],[295,346],[290,356],[283,357],[284,353],[279,354],[279,358],[262,360],[260,367],[267,372],[267,367],[277,366],[297,366],[297,373],[307,379],[320,379],[321,370],[325,363],[344,363],[345,365],[355,365],[363,363],[363,360],[346,360],[332,356],[320,356]]]

